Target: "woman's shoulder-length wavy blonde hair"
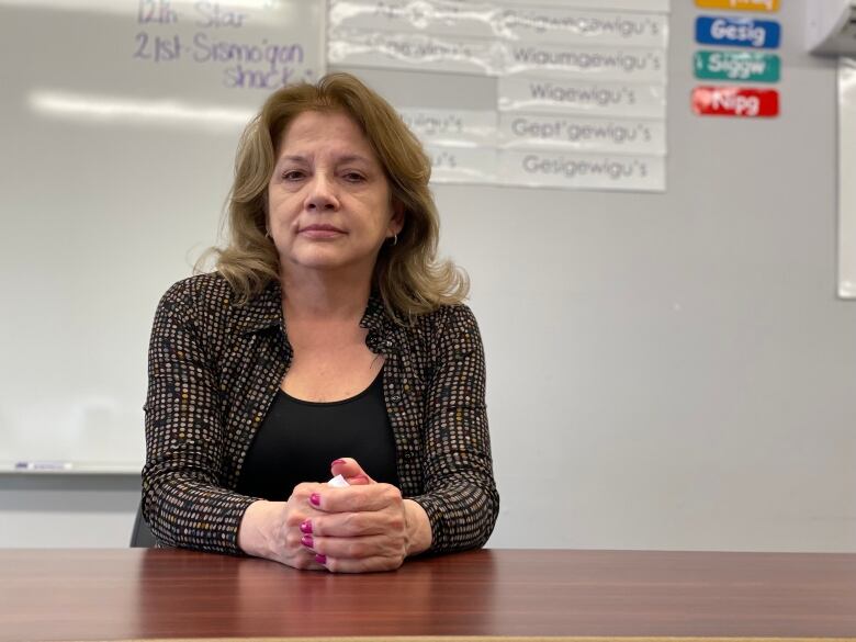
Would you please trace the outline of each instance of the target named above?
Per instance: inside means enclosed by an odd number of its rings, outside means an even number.
[[[239,304],[279,279],[279,256],[267,236],[268,182],[283,134],[307,111],[341,112],[353,120],[384,169],[393,204],[404,212],[397,243],[383,245],[372,277],[390,315],[403,324],[463,301],[470,289],[466,273],[437,257],[440,221],[428,188],[430,160],[395,110],[350,74],[330,74],[317,85],[283,87],[268,98],[238,144],[226,246],[211,248],[198,267],[213,254]]]

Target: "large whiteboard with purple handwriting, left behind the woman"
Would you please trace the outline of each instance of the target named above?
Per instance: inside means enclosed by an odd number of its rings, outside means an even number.
[[[324,43],[320,0],[0,2],[0,471],[139,470],[158,300]]]

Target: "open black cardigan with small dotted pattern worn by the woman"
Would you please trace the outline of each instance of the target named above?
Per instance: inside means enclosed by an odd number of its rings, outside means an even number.
[[[240,554],[238,527],[256,498],[234,488],[292,349],[279,282],[248,304],[233,299],[221,274],[200,274],[170,288],[155,315],[143,514],[160,545]],[[401,492],[427,513],[430,551],[483,545],[499,496],[475,317],[465,305],[442,306],[402,327],[373,296],[360,325],[385,357]]]

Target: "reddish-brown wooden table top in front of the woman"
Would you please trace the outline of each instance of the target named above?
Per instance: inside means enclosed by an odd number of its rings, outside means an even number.
[[[173,550],[0,551],[3,642],[356,635],[856,639],[856,554],[484,550],[331,575]]]

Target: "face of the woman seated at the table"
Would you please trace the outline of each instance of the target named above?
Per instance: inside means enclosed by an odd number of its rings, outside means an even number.
[[[280,142],[268,183],[268,226],[282,269],[374,269],[402,229],[383,168],[342,113],[304,112]]]

